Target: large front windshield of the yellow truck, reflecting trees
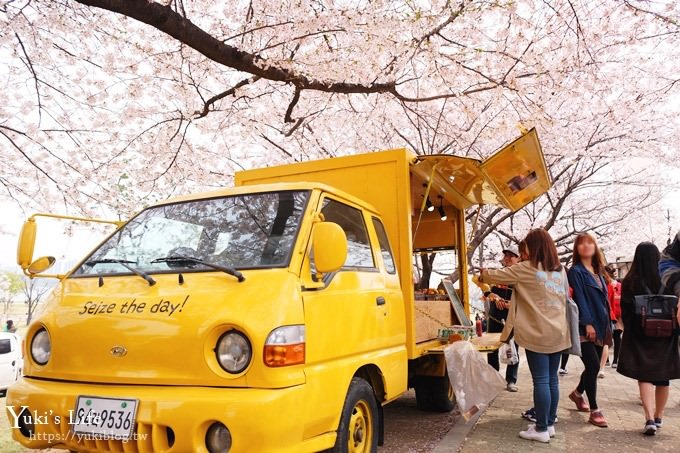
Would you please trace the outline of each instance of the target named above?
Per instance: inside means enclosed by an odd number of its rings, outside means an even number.
[[[124,275],[130,266],[145,273],[287,266],[308,196],[267,192],[146,209],[72,275]]]

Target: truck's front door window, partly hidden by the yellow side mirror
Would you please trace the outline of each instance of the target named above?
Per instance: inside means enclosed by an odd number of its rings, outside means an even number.
[[[347,235],[347,259],[344,267],[374,268],[371,243],[361,211],[340,202],[324,200],[321,213],[327,222],[340,225]]]

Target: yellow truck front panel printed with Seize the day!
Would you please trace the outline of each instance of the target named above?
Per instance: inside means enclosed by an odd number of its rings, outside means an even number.
[[[244,271],[239,283],[221,272],[69,278],[52,292],[26,343],[45,327],[52,355],[27,376],[93,383],[285,387],[304,382],[302,367],[267,368],[264,341],[282,325],[302,324],[299,282],[285,269]],[[237,329],[253,348],[249,367],[231,375],[218,364],[220,335]]]

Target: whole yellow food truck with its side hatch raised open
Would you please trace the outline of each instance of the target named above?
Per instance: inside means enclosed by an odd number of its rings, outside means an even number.
[[[398,149],[243,171],[235,187],[150,206],[59,279],[7,393],[13,437],[79,452],[375,452],[382,408],[415,387],[451,410],[414,254],[455,252],[465,209],[517,210],[550,187],[535,130],[485,161]],[[80,219],[85,220],[85,219]],[[94,221],[102,221],[94,219]]]

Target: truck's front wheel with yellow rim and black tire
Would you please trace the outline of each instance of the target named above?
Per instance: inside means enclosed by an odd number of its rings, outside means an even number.
[[[353,378],[340,417],[338,437],[332,453],[375,453],[378,451],[378,403],[371,385]]]

